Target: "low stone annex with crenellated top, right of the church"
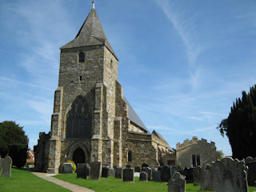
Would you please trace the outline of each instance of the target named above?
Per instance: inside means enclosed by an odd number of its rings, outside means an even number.
[[[186,139],[182,144],[176,144],[177,165],[181,163],[184,167],[192,167],[192,155],[200,156],[201,166],[206,163],[216,162],[216,147],[214,142],[207,142],[206,139],[198,140],[193,137],[192,140]]]

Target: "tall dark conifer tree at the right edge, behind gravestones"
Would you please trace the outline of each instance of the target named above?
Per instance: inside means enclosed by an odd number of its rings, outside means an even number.
[[[228,118],[217,128],[229,138],[233,158],[256,157],[256,85],[248,94],[242,91],[242,99],[236,99]]]

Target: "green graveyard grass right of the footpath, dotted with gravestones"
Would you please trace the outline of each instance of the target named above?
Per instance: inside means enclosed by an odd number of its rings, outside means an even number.
[[[62,179],[66,182],[74,183],[78,186],[84,186],[91,190],[96,190],[97,192],[159,192],[168,191],[167,182],[139,182],[139,178],[134,178],[133,182],[122,182],[121,178],[101,178],[99,181],[76,178],[77,174],[58,174],[54,178]],[[193,183],[186,183],[187,192],[198,192],[200,191],[200,186],[194,186]],[[249,192],[256,191],[256,187],[250,186]]]

